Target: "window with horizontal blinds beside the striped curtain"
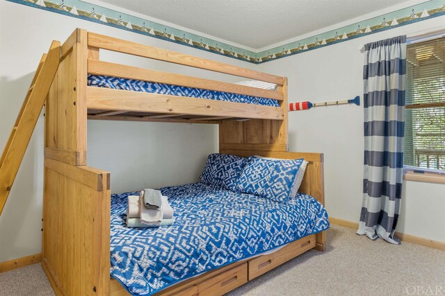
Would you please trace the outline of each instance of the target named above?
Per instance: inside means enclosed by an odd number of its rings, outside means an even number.
[[[404,165],[445,171],[445,37],[407,46]]]

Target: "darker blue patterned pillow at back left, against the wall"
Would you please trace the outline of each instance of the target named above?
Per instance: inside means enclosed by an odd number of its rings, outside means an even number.
[[[247,162],[244,157],[214,153],[207,157],[200,182],[236,191],[236,180]]]

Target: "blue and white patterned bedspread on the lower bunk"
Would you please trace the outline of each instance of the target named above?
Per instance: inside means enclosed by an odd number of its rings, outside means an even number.
[[[175,223],[125,225],[127,196],[111,195],[111,276],[133,295],[152,295],[179,281],[273,250],[329,228],[315,198],[288,202],[193,183],[161,189]]]

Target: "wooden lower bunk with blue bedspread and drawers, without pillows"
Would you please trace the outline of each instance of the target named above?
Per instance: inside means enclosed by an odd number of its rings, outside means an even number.
[[[111,195],[109,173],[45,158],[42,266],[56,295],[223,295],[325,250],[322,154],[221,153],[309,163],[300,192],[286,202],[201,182],[166,187],[175,223],[134,229],[125,225],[131,193]]]

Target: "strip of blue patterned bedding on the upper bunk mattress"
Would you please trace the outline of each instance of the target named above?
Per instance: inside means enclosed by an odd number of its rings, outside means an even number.
[[[208,89],[197,89],[192,87],[180,87],[177,85],[166,85],[164,83],[147,82],[143,80],[133,80],[111,76],[88,75],[88,86],[124,89],[131,90],[133,92],[168,94],[172,96],[190,96],[192,98],[207,98],[209,100],[280,107],[278,101],[271,98],[246,96],[243,94],[231,94],[229,92],[217,92]]]

